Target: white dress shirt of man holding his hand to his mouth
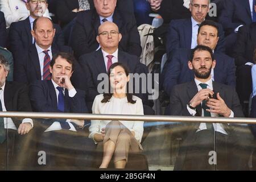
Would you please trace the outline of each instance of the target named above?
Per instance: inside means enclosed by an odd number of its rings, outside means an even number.
[[[58,99],[59,90],[56,89],[57,86],[59,86],[59,85],[57,85],[53,80],[52,80],[52,84],[53,84],[53,86],[54,86],[54,88],[55,88],[56,97],[57,97],[57,102],[59,102],[59,99]],[[63,94],[64,94],[64,96],[65,96],[65,89],[63,89]],[[73,89],[71,89],[71,90],[68,90],[68,96],[69,96],[69,97],[74,97],[75,95],[76,95],[76,89],[75,89],[75,88],[73,88]],[[67,119],[67,120],[66,120],[66,122],[68,122],[68,124],[69,124],[69,126],[70,126],[70,129],[69,129],[69,130],[71,130],[71,131],[76,131],[75,127],[72,125],[72,123],[71,123],[70,121],[71,121],[71,119]],[[44,132],[47,132],[47,131],[55,131],[55,130],[61,130],[60,122],[57,122],[57,121],[53,122],[52,125],[49,126],[48,129],[46,129],[46,131],[44,131]]]

